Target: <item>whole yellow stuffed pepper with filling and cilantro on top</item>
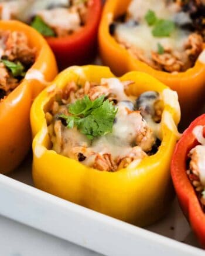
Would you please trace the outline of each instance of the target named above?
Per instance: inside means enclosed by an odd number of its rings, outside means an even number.
[[[176,92],[141,72],[71,67],[31,110],[37,188],[103,214],[148,225],[173,196]]]

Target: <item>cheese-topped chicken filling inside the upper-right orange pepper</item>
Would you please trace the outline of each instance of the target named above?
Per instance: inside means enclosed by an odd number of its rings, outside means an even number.
[[[175,26],[169,36],[152,34],[154,26],[148,22],[157,18]],[[170,23],[164,25],[160,29],[170,29]],[[205,3],[200,0],[132,0],[127,14],[111,24],[110,32],[139,61],[160,71],[183,72],[193,67],[203,50]]]

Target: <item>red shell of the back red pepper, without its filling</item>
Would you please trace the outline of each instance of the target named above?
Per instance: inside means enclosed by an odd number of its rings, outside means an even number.
[[[59,69],[93,61],[97,53],[97,31],[101,9],[101,0],[88,1],[87,22],[80,30],[64,37],[46,38],[56,56]]]

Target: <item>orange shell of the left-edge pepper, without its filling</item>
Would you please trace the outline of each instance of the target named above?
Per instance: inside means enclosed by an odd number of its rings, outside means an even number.
[[[0,29],[22,31],[36,48],[36,61],[11,94],[0,102],[0,172],[15,169],[31,144],[29,113],[33,99],[57,74],[54,55],[35,29],[19,21],[0,21]]]

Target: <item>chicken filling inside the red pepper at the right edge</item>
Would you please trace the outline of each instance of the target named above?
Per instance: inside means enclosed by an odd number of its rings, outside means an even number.
[[[197,197],[201,202],[201,206],[205,211],[205,126],[194,128],[193,134],[199,145],[194,147],[188,154],[189,169],[187,175],[196,191]]]

